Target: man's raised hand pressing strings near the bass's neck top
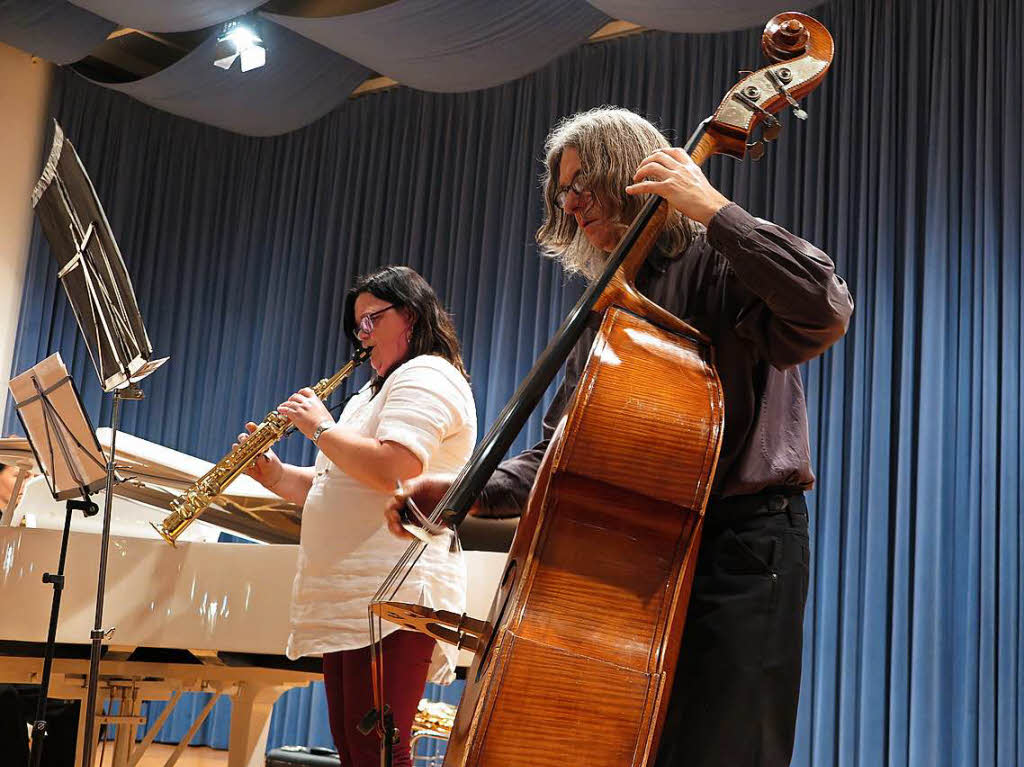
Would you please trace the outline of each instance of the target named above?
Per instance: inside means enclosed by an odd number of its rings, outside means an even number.
[[[707,226],[729,199],[711,185],[703,171],[679,147],[658,150],[640,163],[628,195],[657,195],[684,216]]]

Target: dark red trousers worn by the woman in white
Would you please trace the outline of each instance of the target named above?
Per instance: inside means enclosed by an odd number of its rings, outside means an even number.
[[[426,634],[396,631],[383,642],[384,701],[394,712],[399,741],[394,747],[394,767],[409,767],[410,730],[430,670],[435,641]],[[324,687],[331,734],[342,767],[379,767],[381,740],[376,732],[360,733],[356,726],[374,706],[370,648],[341,650],[324,655]]]

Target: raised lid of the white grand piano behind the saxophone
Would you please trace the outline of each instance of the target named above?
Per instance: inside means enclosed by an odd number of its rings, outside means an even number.
[[[104,452],[111,444],[111,430],[96,429]],[[118,432],[117,462],[124,480],[114,489],[115,496],[147,504],[166,513],[171,500],[213,468],[208,461],[178,453],[170,448]],[[14,464],[39,471],[29,440],[23,437],[0,439],[0,463]],[[249,476],[236,479],[228,492],[218,496],[202,517],[231,532],[268,544],[299,542],[300,509],[283,501]]]

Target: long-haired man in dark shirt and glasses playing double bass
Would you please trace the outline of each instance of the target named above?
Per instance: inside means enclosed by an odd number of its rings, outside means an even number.
[[[637,278],[648,298],[712,340],[725,432],[663,730],[658,767],[784,767],[793,753],[814,483],[797,366],[846,332],[853,301],[833,261],[731,203],[648,121],[601,108],[548,136],[543,251],[594,279],[642,200],[671,208]],[[545,439],[504,462],[473,509],[515,516],[569,402],[596,327],[580,339],[544,419]],[[409,483],[427,512],[451,477]],[[397,510],[395,535],[406,534]]]

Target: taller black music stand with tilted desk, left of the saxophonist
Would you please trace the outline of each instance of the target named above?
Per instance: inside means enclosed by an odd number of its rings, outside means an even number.
[[[75,310],[99,382],[103,391],[114,393],[103,527],[99,544],[96,620],[90,634],[92,647],[85,710],[83,767],[91,767],[99,658],[103,639],[114,632],[113,628],[104,630],[102,624],[121,400],[142,399],[138,381],[163,365],[167,357],[151,360],[153,347],[142,325],[121,251],[92,181],[56,121],[53,123],[53,145],[42,177],[32,193],[32,207],[59,266],[57,276]]]

